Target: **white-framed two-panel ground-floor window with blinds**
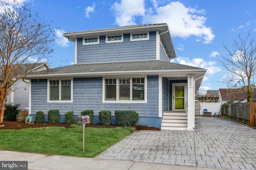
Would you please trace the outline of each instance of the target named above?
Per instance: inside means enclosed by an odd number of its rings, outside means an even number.
[[[48,80],[48,102],[72,102],[73,79]]]

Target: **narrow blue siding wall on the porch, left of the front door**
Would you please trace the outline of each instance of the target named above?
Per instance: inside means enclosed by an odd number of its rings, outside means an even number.
[[[168,110],[169,110],[169,80],[167,77],[163,77],[162,78],[162,111],[168,111]]]

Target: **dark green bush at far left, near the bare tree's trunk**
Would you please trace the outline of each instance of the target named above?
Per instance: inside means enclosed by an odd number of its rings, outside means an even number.
[[[17,115],[20,111],[18,109],[20,107],[20,104],[12,104],[8,103],[4,105],[4,120],[8,121],[16,121]]]

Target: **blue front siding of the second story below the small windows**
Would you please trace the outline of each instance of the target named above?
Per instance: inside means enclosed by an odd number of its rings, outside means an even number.
[[[155,60],[156,32],[149,36],[149,40],[130,41],[130,34],[124,34],[124,41],[118,43],[106,43],[106,37],[101,36],[94,45],[83,45],[83,39],[78,38],[77,64]]]

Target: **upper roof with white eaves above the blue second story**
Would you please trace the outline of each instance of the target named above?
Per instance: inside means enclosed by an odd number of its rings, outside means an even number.
[[[173,47],[172,38],[170,35],[170,29],[166,23],[158,24],[146,24],[146,25],[129,25],[122,27],[111,27],[103,29],[93,29],[86,31],[76,31],[71,33],[64,33],[63,36],[68,38],[70,41],[76,40],[76,38],[94,37],[94,36],[106,36],[106,35],[120,35],[128,33],[143,33],[150,31],[159,31],[162,41],[167,49],[167,53],[170,58],[176,58],[176,53]]]

